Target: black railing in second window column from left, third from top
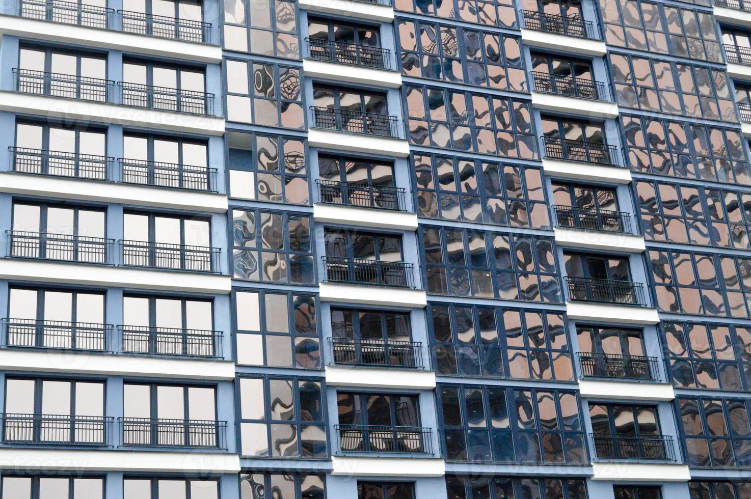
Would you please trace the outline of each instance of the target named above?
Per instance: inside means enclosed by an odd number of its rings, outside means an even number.
[[[122,182],[216,192],[216,168],[121,158]]]

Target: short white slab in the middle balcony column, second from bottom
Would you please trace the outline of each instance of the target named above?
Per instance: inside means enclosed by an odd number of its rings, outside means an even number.
[[[432,390],[436,388],[436,373],[415,369],[327,365],[326,383],[329,386]]]

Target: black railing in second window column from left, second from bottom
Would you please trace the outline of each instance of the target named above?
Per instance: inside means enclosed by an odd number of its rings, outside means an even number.
[[[171,327],[117,326],[125,353],[222,357],[222,332]]]

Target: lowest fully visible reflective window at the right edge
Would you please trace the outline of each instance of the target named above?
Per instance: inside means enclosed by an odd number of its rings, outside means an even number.
[[[689,466],[751,467],[749,401],[680,397],[676,404]]]

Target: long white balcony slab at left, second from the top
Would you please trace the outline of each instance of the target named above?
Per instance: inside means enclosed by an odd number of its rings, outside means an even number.
[[[219,106],[219,102],[215,103]],[[193,134],[221,136],[225,120],[216,116],[173,113],[119,104],[76,101],[47,95],[0,92],[0,110],[68,120],[118,123]]]

